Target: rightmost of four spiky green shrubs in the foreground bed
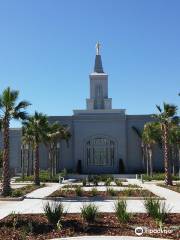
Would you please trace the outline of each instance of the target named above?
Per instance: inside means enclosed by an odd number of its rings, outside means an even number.
[[[166,203],[160,202],[159,199],[145,198],[144,206],[149,216],[155,219],[159,224],[164,223],[167,218],[167,214],[170,212],[170,210],[166,207]]]

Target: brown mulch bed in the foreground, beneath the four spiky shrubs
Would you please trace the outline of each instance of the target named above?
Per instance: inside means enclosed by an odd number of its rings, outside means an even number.
[[[87,226],[80,214],[66,214],[61,221],[61,229],[55,229],[42,214],[10,215],[0,221],[0,239],[4,240],[45,240],[57,237],[83,235],[137,236],[136,227],[149,230],[159,229],[156,221],[147,214],[134,214],[126,224],[120,224],[113,213],[101,213],[95,223]],[[143,236],[179,239],[180,214],[168,214],[163,227],[168,233],[144,233]]]

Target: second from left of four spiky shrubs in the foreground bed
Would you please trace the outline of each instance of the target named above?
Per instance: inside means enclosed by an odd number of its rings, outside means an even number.
[[[84,205],[81,208],[81,217],[88,224],[89,223],[94,223],[96,221],[98,215],[99,215],[98,207],[93,203],[90,203],[88,205]]]

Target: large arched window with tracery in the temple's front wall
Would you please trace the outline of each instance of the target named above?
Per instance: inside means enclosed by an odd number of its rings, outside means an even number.
[[[113,166],[115,143],[104,137],[96,137],[86,142],[86,160],[88,166]]]

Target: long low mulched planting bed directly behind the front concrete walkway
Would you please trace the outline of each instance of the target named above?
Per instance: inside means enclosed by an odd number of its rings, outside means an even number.
[[[108,188],[107,188],[108,189]],[[113,189],[113,188],[112,188]],[[53,192],[49,197],[51,198],[75,198],[75,197],[101,197],[101,198],[109,198],[109,197],[156,197],[155,194],[149,192],[144,189],[125,189],[123,191],[112,190],[111,188],[107,191],[81,191],[77,193],[75,189],[59,189]]]

